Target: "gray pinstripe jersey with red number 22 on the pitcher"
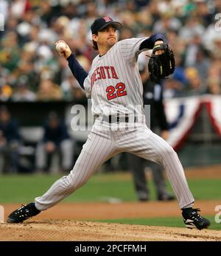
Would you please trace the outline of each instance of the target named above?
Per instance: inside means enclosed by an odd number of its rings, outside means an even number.
[[[143,85],[138,72],[139,46],[147,38],[130,38],[116,43],[105,55],[97,55],[84,82],[92,100],[92,114],[134,114],[143,110]],[[129,64],[129,65],[128,65]],[[136,108],[141,105],[141,108]]]

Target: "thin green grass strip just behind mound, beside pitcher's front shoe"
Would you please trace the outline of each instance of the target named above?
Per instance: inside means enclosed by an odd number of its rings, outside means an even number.
[[[214,221],[214,216],[207,215],[211,221],[209,229],[221,230],[221,223]],[[91,221],[91,220],[90,220]],[[105,223],[120,223],[120,224],[131,224],[131,225],[146,225],[146,226],[175,226],[184,227],[183,219],[179,217],[166,217],[166,218],[118,218],[118,219],[105,219],[105,220],[93,220],[94,222],[105,222]]]

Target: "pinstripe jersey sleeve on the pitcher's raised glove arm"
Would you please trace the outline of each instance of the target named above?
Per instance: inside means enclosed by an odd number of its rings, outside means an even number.
[[[133,64],[137,61],[138,55],[147,49],[141,49],[140,46],[147,38],[130,38],[119,41],[119,50],[122,53],[122,57],[127,63]]]

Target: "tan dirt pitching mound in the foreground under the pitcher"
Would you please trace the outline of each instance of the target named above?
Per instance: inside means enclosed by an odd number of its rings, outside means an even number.
[[[220,232],[203,229],[71,220],[1,224],[1,241],[220,241]]]

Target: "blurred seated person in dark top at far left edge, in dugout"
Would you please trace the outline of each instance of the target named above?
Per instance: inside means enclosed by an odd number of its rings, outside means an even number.
[[[18,172],[18,123],[5,105],[0,106],[0,173]]]

